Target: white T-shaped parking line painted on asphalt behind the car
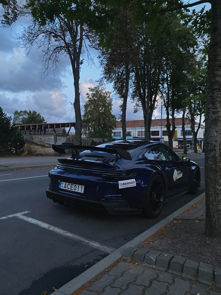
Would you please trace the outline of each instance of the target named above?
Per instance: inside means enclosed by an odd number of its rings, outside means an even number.
[[[8,219],[8,218],[17,217],[17,218],[20,218],[20,219],[25,220],[27,222],[33,223],[35,225],[38,225],[40,227],[43,227],[44,229],[48,229],[48,230],[50,230],[52,232],[56,232],[59,235],[63,235],[63,236],[65,236],[67,238],[70,238],[72,240],[81,242],[83,244],[89,245],[89,246],[91,246],[93,248],[96,248],[98,250],[107,252],[109,254],[112,253],[112,252],[114,252],[116,250],[116,249],[114,249],[112,247],[108,247],[108,246],[103,245],[103,244],[100,244],[98,242],[95,242],[95,241],[89,240],[87,238],[81,237],[80,235],[75,235],[75,234],[73,234],[71,232],[67,232],[64,229],[59,229],[56,226],[52,226],[52,225],[47,224],[47,223],[44,223],[44,222],[42,222],[40,220],[37,220],[37,219],[34,219],[32,217],[29,217],[29,216],[25,216],[24,215],[24,214],[27,214],[27,213],[30,213],[30,212],[31,211],[19,212],[19,213],[15,213],[15,214],[3,216],[0,219],[1,220],[5,220],[5,219]]]

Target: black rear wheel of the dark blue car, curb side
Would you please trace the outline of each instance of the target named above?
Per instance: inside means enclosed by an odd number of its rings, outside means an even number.
[[[164,201],[164,181],[160,175],[155,175],[148,184],[142,215],[150,219],[156,218],[162,211]]]

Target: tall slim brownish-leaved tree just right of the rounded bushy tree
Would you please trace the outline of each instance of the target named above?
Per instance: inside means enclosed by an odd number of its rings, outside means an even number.
[[[126,109],[129,93],[129,82],[133,61],[136,59],[135,35],[136,26],[132,22],[129,10],[120,14],[121,25],[115,31],[115,38],[110,48],[105,44],[100,48],[100,63],[103,69],[102,80],[113,83],[115,92],[122,100],[121,123],[122,138],[126,140]]]

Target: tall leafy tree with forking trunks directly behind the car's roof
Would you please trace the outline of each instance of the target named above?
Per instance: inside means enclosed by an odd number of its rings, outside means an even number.
[[[142,107],[144,136],[147,140],[150,140],[150,127],[159,93],[163,58],[163,38],[154,35],[153,29],[150,24],[143,24],[138,28],[138,56],[134,64],[132,92],[132,98],[136,103],[135,112]]]

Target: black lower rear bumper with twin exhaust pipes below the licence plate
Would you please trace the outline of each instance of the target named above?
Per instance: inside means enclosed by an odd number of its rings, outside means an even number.
[[[119,201],[119,202],[98,202],[98,201],[91,201],[87,199],[81,199],[75,196],[70,196],[70,194],[65,194],[65,192],[54,192],[50,189],[46,191],[47,198],[52,199],[56,202],[64,201],[64,199],[68,199],[68,201],[72,200],[74,203],[94,207],[100,211],[106,211],[109,214],[140,214],[141,211],[138,209],[130,208],[127,201]]]

